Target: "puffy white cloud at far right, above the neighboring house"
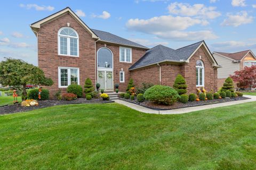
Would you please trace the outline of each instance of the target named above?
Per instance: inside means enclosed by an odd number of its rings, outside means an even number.
[[[246,11],[241,11],[235,15],[228,13],[227,16],[228,18],[221,23],[222,26],[238,27],[239,25],[253,22],[253,16],[248,16]]]

